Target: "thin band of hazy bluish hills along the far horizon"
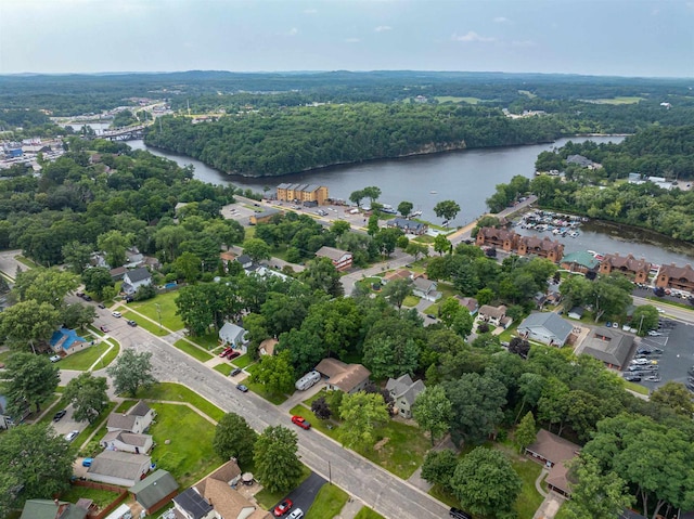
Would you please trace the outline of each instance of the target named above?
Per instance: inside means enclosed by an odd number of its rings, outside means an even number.
[[[582,73],[541,73],[541,72],[503,72],[503,70],[446,70],[446,69],[416,69],[416,68],[374,68],[374,69],[317,69],[317,70],[226,70],[217,68],[191,68],[187,70],[104,70],[104,72],[60,72],[60,73],[42,73],[42,72],[21,72],[21,73],[0,73],[0,77],[36,77],[36,76],[132,76],[132,75],[172,75],[172,74],[190,74],[190,73],[224,73],[224,74],[245,74],[245,75],[299,75],[299,74],[334,74],[334,73],[351,73],[351,74],[373,74],[373,73],[427,73],[427,74],[496,74],[506,76],[576,76],[576,77],[595,77],[595,78],[622,78],[622,79],[694,79],[694,76],[647,76],[647,75],[601,75],[601,74],[582,74]]]

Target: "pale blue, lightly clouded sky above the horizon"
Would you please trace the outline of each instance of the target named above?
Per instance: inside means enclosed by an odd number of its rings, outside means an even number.
[[[0,74],[694,77],[694,0],[0,0]]]

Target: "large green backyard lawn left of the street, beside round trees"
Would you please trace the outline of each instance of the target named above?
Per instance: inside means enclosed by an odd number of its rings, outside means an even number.
[[[150,405],[157,413],[150,427],[150,434],[156,442],[152,462],[171,472],[181,488],[198,481],[220,464],[213,450],[213,424],[184,405]],[[166,441],[169,441],[168,445]]]

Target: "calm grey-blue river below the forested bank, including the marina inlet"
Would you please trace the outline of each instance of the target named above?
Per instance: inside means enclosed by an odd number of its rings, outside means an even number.
[[[621,142],[624,138],[591,137],[590,140],[599,143]],[[423,219],[433,222],[440,221],[433,211],[436,203],[453,199],[460,205],[461,212],[451,223],[464,225],[487,211],[485,200],[494,193],[497,184],[506,183],[516,174],[531,178],[535,174],[538,154],[561,147],[568,141],[569,139],[560,139],[553,144],[467,150],[398,160],[374,160],[325,168],[310,173],[264,179],[229,176],[191,157],[145,146],[141,140],[129,141],[128,144],[134,150],[149,150],[154,155],[169,158],[181,166],[193,165],[195,178],[204,182],[233,183],[239,187],[260,193],[266,186],[274,191],[281,182],[311,183],[326,185],[333,198],[347,199],[354,191],[367,185],[376,185],[383,192],[378,202],[397,207],[400,202],[409,200],[414,204],[415,210],[422,211]],[[660,264],[685,264],[694,261],[694,246],[640,230],[628,231],[597,222],[584,225],[577,238],[558,239],[565,245],[565,254],[591,249],[604,254],[633,254]]]

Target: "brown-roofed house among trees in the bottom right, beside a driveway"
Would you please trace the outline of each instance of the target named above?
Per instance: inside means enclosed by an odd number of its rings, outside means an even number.
[[[568,467],[566,464],[574,459],[580,450],[581,447],[576,443],[540,429],[535,443],[528,446],[525,453],[550,469],[544,480],[549,489],[569,497],[571,492],[567,479]]]

